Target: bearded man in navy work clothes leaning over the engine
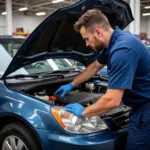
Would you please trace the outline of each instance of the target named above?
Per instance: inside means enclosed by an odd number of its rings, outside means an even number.
[[[84,108],[74,103],[66,110],[78,117],[101,115],[121,100],[132,108],[127,138],[127,150],[150,149],[150,51],[130,32],[110,26],[107,17],[91,9],[83,14],[74,28],[80,32],[86,46],[100,52],[71,83],[56,92],[64,96],[74,87],[92,78],[105,65],[108,67],[107,92],[96,103]]]

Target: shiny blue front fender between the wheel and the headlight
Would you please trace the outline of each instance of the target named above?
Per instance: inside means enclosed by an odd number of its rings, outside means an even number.
[[[3,82],[0,82],[0,91],[3,93],[0,94],[0,117],[13,116],[25,121],[32,128],[62,132],[51,115],[50,107],[52,104],[8,89]]]

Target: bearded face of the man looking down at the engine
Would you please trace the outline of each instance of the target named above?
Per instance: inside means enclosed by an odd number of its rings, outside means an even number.
[[[101,33],[97,29],[94,32],[86,30],[84,26],[80,29],[80,34],[85,40],[86,46],[92,48],[96,52],[101,51],[104,48],[103,38]]]

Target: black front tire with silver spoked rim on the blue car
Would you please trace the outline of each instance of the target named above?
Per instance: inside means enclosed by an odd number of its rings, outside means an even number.
[[[11,141],[11,142],[10,142]],[[10,123],[0,131],[0,150],[8,150],[10,146],[23,147],[21,150],[42,150],[31,131],[21,123]],[[11,149],[10,148],[10,149]]]

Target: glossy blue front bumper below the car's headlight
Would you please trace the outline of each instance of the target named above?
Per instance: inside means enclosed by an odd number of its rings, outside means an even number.
[[[87,135],[62,135],[47,130],[36,130],[43,150],[123,150],[127,129]]]

